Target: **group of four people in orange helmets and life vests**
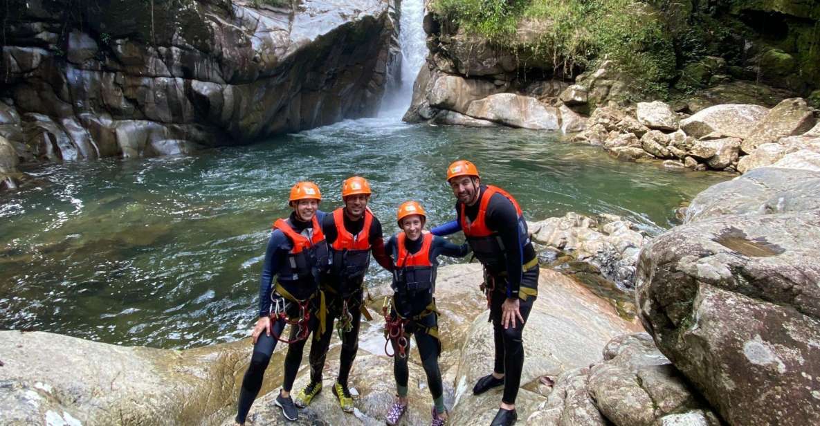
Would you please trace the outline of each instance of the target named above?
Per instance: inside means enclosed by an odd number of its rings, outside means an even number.
[[[396,220],[401,232],[385,245],[380,221],[367,208],[367,180],[344,180],[344,206],[331,213],[319,210],[316,184],[299,182],[290,190],[293,212],[276,220],[267,244],[259,291],[259,319],[253,328],[253,355],[239,392],[236,423],[244,424],[262,387],[265,369],[277,342],[288,343],[284,379],[275,404],[285,419],[298,419],[322,389],[322,369],[333,328],[342,341],[339,375],[332,391],[339,406],[353,411],[348,374],[358,351],[362,315],[369,317],[363,297],[371,255],[393,273],[393,296],[385,299],[385,338],[392,346],[397,398],[387,424],[398,424],[408,409],[408,350],[416,338],[433,406],[431,424],[443,425],[448,414],[439,369],[441,344],[435,308],[438,256],[474,256],[484,266],[485,292],[494,333],[494,368],[480,378],[473,393],[503,386],[503,397],[492,425],[514,424],[515,400],[524,364],[522,330],[538,295],[538,259],[526,221],[516,200],[501,188],[481,184],[476,165],[455,161],[447,180],[458,199],[456,220],[425,230],[426,212],[418,202],[403,202]],[[462,231],[461,246],[442,236]],[[285,327],[287,336],[283,336]],[[303,349],[312,335],[310,382],[291,397]],[[385,347],[387,345],[385,344]]]

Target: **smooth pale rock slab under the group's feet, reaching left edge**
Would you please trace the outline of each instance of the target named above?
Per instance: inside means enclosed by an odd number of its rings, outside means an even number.
[[[436,289],[443,344],[440,366],[454,424],[485,417],[489,422],[500,398],[496,391],[481,397],[470,391],[472,382],[492,365],[486,351],[492,347],[489,311],[478,289],[481,279],[480,265],[446,266],[440,269]],[[371,310],[380,306],[381,290],[386,288],[376,290]],[[527,390],[540,376],[599,360],[609,339],[640,330],[640,324],[620,318],[606,301],[562,274],[543,270],[539,291],[524,333],[527,364],[518,399],[522,415],[545,401],[540,393]],[[393,360],[384,355],[383,322],[374,316],[374,321],[362,324],[360,352],[349,382],[358,393],[356,411],[343,413],[330,392],[339,368],[339,341],[334,338],[324,374],[326,388],[310,407],[300,410],[298,424],[383,424],[395,393]],[[57,417],[65,424],[72,419],[82,424],[231,424],[251,350],[248,340],[172,351],[18,331],[0,332],[0,342],[0,387],[7,391],[0,394],[3,424],[42,424]],[[284,346],[277,347],[267,369],[262,393],[248,417],[253,424],[284,424],[272,405],[282,380]],[[294,390],[307,384],[305,363]],[[431,398],[414,348],[409,366],[411,402],[403,424],[429,424]]]

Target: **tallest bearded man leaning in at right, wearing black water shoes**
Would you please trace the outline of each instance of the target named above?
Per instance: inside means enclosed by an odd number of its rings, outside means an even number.
[[[522,330],[538,295],[538,257],[521,207],[503,189],[482,185],[476,165],[455,161],[447,169],[447,180],[458,198],[458,219],[432,232],[464,232],[476,258],[484,265],[482,288],[493,323],[494,369],[478,380],[472,392],[479,395],[503,385],[501,406],[491,425],[514,424],[515,400],[524,365]]]

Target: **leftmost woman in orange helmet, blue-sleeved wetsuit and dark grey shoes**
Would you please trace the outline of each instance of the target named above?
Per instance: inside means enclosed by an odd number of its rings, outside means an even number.
[[[319,276],[326,268],[328,249],[319,211],[321,192],[312,182],[299,182],[288,199],[294,210],[287,219],[276,220],[268,240],[259,290],[259,319],[253,327],[253,355],[242,380],[237,403],[236,424],[244,424],[253,400],[262,387],[265,369],[276,342],[287,342],[282,389],[274,402],[285,419],[298,419],[290,390],[302,362],[307,336],[321,338],[324,324],[324,294]],[[291,325],[289,338],[283,338]]]

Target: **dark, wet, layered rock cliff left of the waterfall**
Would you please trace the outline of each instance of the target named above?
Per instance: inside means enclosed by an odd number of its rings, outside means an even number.
[[[71,161],[367,116],[396,60],[394,16],[389,0],[11,0],[0,136],[23,161]]]

